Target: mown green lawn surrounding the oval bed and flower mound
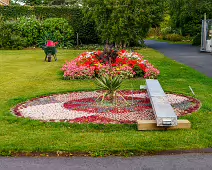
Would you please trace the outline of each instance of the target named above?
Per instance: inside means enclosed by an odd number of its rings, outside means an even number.
[[[83,51],[59,50],[58,62],[44,62],[42,50],[0,51],[0,155],[14,152],[145,154],[212,147],[212,79],[152,50],[139,51],[159,68],[164,91],[191,96],[202,108],[184,117],[190,130],[137,131],[136,125],[43,123],[10,114],[28,99],[53,93],[94,90],[93,80],[63,80],[60,68]],[[143,80],[125,80],[122,89],[139,89]]]

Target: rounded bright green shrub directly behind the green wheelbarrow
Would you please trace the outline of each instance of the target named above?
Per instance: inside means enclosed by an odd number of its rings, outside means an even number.
[[[46,44],[46,40],[58,41],[59,46],[69,48],[73,45],[73,28],[64,18],[48,18],[41,24],[39,45]],[[41,44],[43,40],[44,44]]]

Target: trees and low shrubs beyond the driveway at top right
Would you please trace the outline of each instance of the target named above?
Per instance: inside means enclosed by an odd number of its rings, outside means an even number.
[[[212,18],[211,0],[165,0],[164,3],[164,21],[151,29],[149,37],[200,45],[204,13],[207,19]]]

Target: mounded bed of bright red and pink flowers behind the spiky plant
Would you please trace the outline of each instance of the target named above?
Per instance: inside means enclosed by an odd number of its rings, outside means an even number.
[[[84,52],[76,59],[67,61],[61,70],[64,71],[66,79],[85,79],[102,75],[157,78],[160,74],[158,69],[137,52],[113,52],[114,56],[108,56],[102,51]]]

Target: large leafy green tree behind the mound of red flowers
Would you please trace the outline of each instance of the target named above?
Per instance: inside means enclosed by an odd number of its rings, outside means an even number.
[[[84,0],[84,12],[91,16],[102,41],[117,45],[137,44],[151,25],[163,17],[161,0]]]

